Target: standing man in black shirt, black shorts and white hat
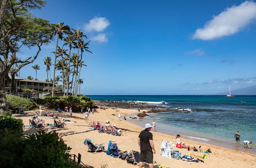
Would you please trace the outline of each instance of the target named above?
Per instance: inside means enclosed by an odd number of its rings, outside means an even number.
[[[153,153],[155,154],[156,151],[153,143],[153,134],[150,132],[151,128],[151,124],[145,124],[145,130],[141,131],[138,137],[138,145],[140,148],[140,168],[144,161],[148,163],[150,168],[153,168]]]

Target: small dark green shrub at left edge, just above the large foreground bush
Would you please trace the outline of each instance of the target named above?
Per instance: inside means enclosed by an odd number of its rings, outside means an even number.
[[[22,119],[15,119],[10,116],[0,116],[0,133],[5,129],[23,131]]]

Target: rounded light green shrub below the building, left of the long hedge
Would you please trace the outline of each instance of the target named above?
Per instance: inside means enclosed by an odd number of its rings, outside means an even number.
[[[19,96],[6,95],[6,99],[9,103],[9,108],[12,110],[14,110],[15,108],[20,108],[28,111],[37,106],[33,100],[22,98]]]

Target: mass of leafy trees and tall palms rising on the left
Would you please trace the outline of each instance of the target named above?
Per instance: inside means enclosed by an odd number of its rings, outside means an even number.
[[[84,53],[90,52],[90,41],[81,30],[71,29],[65,23],[51,23],[49,20],[35,17],[30,11],[44,7],[42,0],[0,0],[0,111],[7,110],[7,101],[4,94],[5,83],[10,83],[10,93],[16,94],[15,76],[24,66],[33,63],[41,46],[56,40],[52,57],[45,57],[43,62],[46,66],[48,82],[47,90],[54,92],[59,81],[62,81],[61,90],[63,95],[77,96],[78,88],[83,81],[80,78],[84,64]],[[60,42],[62,41],[63,42]],[[60,44],[62,44],[60,46]],[[33,48],[31,57],[24,59],[17,56],[23,48]],[[52,62],[53,60],[53,62]],[[51,66],[53,65],[52,75]],[[35,78],[28,76],[29,80],[37,80],[37,70],[41,65],[33,65]],[[56,75],[57,71],[61,75]],[[10,75],[10,76],[9,76]],[[49,78],[50,76],[50,78]],[[52,88],[49,82],[54,85]],[[50,89],[51,88],[51,89]],[[59,87],[58,87],[59,88]]]

